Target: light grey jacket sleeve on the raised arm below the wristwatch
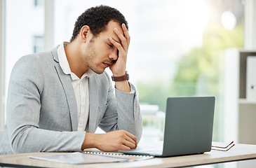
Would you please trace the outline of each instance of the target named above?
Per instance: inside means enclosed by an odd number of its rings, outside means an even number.
[[[142,116],[140,104],[137,102],[137,92],[132,83],[129,83],[133,92],[126,93],[117,90],[109,78],[109,93],[107,110],[102,118],[100,127],[105,132],[126,130],[140,141],[142,136]]]

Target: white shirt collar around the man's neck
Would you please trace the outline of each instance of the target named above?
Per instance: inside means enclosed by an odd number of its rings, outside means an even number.
[[[67,61],[67,55],[65,53],[65,49],[64,47],[68,44],[68,42],[63,42],[60,44],[57,52],[58,52],[58,57],[59,57],[59,61],[60,61],[60,67],[62,69],[62,71],[65,73],[65,74],[70,74],[71,77],[73,78],[73,76],[75,75],[71,69],[70,69],[70,66],[69,66],[69,62]],[[95,74],[95,72],[91,69],[88,69],[86,71],[86,73],[83,73],[83,76],[81,78],[85,78],[85,77],[90,77],[90,76],[93,76]],[[78,78],[78,77],[77,77]]]

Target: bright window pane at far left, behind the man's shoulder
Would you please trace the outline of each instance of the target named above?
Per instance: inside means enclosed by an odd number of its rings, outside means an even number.
[[[43,50],[43,33],[44,6],[34,6],[34,0],[6,1],[5,102],[13,65],[23,55]]]

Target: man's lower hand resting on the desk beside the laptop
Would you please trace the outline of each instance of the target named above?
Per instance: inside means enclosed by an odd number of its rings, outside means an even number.
[[[127,151],[137,148],[137,138],[125,130],[117,130],[106,134],[93,134],[86,132],[82,150],[85,148],[98,148],[100,151]]]

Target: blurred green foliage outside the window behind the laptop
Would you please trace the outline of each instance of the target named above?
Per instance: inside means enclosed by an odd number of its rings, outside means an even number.
[[[215,96],[215,127],[213,140],[222,140],[223,123],[223,62],[224,50],[243,48],[243,22],[234,29],[227,30],[220,23],[206,27],[203,43],[192,48],[177,61],[175,76],[169,80],[154,79],[138,81],[141,103],[159,105],[160,111],[166,111],[167,97]],[[192,33],[192,32],[191,32]]]

